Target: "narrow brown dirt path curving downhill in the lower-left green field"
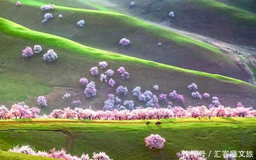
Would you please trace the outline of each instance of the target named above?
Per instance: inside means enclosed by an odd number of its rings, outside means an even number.
[[[70,153],[72,150],[72,145],[73,145],[73,141],[74,141],[74,136],[71,134],[70,131],[68,130],[46,130],[46,129],[6,129],[6,130],[0,130],[0,132],[3,131],[12,131],[12,130],[34,130],[34,131],[49,131],[49,132],[62,132],[64,134],[66,134],[68,136],[68,146],[66,148],[67,153]]]

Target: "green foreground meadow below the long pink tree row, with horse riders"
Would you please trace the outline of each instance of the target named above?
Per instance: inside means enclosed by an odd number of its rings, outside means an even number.
[[[150,120],[152,123],[155,121]],[[22,138],[25,138],[26,135],[23,133],[30,132],[30,130],[68,130],[73,138],[70,142],[72,143],[72,154],[80,155],[85,152],[91,155],[92,152],[104,151],[113,160],[170,160],[170,158],[176,159],[176,152],[180,150],[204,150],[206,154],[209,154],[210,150],[251,150],[256,152],[254,118],[164,119],[161,121],[163,122],[162,126],[157,127],[152,123],[150,126],[145,126],[146,120],[1,120],[0,130],[6,130],[5,133],[10,132],[12,135],[14,131],[11,129],[15,128],[17,129],[16,135],[21,133],[21,136],[14,138],[0,131],[0,140],[7,139],[6,143],[9,143],[8,146],[1,143],[0,145],[5,151],[13,144],[23,144]],[[159,134],[166,139],[164,148],[150,150],[145,147],[144,138],[151,133]],[[36,140],[38,135],[33,135],[31,138],[34,138],[35,141],[30,144],[34,145],[36,149],[48,150],[51,148],[51,146],[41,146],[40,142]],[[248,141],[250,143],[244,143]],[[55,142],[59,148],[65,147],[61,140],[55,140]],[[58,144],[58,142],[60,143]],[[214,158],[213,153],[207,159],[218,160]],[[240,159],[238,158],[238,160]]]

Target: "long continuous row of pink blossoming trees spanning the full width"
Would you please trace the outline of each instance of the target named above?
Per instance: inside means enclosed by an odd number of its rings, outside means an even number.
[[[4,106],[0,107],[0,119],[29,119],[29,118],[62,118],[62,119],[94,119],[94,120],[136,120],[136,119],[168,119],[181,117],[256,117],[256,110],[252,107],[230,108],[219,105],[218,107],[207,108],[206,106],[189,106],[171,108],[137,108],[132,111],[124,109],[118,111],[93,111],[92,109],[82,109],[66,107],[54,109],[50,115],[39,116],[40,109],[29,108],[25,104],[14,104],[10,111]]]

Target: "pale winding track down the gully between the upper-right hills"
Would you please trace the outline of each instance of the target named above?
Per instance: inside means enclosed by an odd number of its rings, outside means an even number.
[[[169,30],[172,30],[172,31],[178,33],[178,34],[190,36],[193,39],[204,41],[205,43],[208,43],[210,45],[217,47],[218,49],[220,49],[221,51],[226,53],[230,57],[230,59],[232,61],[234,61],[238,65],[238,67],[240,67],[240,69],[243,71],[244,81],[247,81],[248,83],[256,85],[256,78],[254,76],[254,74],[256,74],[256,73],[254,73],[252,71],[252,69],[250,69],[250,67],[248,66],[248,60],[246,59],[246,58],[250,57],[251,59],[256,61],[256,58],[252,57],[252,55],[256,55],[256,47],[255,46],[240,45],[238,43],[232,44],[230,42],[221,41],[221,40],[218,40],[215,38],[210,38],[208,36],[203,36],[202,34],[173,28],[170,26],[170,19],[167,19],[166,17],[158,16],[151,12],[152,5],[156,4],[158,2],[161,2],[161,0],[154,0],[151,3],[149,3],[145,6],[142,6],[140,8],[140,10],[141,10],[140,13],[132,14],[129,12],[124,12],[123,14],[128,14],[130,16],[137,17],[137,18],[147,21],[148,23],[151,23],[153,25],[167,28]],[[120,8],[120,6],[119,6],[119,8]],[[125,8],[123,8],[123,10],[124,9]],[[140,18],[140,15],[143,15],[143,14],[152,14],[155,17],[159,18],[159,20],[161,20],[161,22],[156,23],[156,22],[152,22],[150,20],[145,20],[143,18]]]

